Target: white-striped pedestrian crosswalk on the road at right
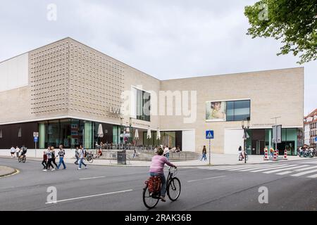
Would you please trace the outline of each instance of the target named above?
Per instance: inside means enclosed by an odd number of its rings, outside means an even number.
[[[214,167],[197,167],[231,172],[251,172],[262,174],[289,175],[292,177],[317,178],[317,165],[310,164],[263,164],[263,165],[226,165]]]

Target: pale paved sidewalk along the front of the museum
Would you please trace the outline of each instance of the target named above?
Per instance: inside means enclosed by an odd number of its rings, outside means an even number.
[[[278,161],[272,160],[263,160],[263,155],[248,155],[249,160],[247,164],[258,164],[258,163],[275,163],[275,162],[287,162],[295,160],[310,160],[313,158],[299,158],[298,156],[287,156],[287,160],[282,160],[282,156],[279,156]],[[11,158],[10,156],[0,156],[0,158]],[[31,158],[27,157],[27,160],[38,160],[42,161],[42,158]],[[56,158],[56,163],[58,163],[58,158]],[[74,159],[64,159],[66,163],[74,163]],[[39,162],[40,163],[40,162]],[[90,164],[89,162],[85,163],[87,165],[103,165],[103,166],[128,166],[128,167],[149,167],[151,162],[149,161],[127,161],[127,165],[118,165],[117,160],[97,160],[94,159],[94,162]],[[206,166],[209,165],[209,155],[207,155],[207,161],[200,160],[189,160],[189,161],[172,161],[172,163],[178,167],[197,167],[197,166]],[[244,160],[239,161],[238,155],[228,155],[228,154],[211,154],[211,165],[244,165]],[[62,166],[63,167],[63,166]]]

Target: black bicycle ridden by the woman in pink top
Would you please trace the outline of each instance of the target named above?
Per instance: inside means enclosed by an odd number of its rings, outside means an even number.
[[[175,201],[180,197],[180,191],[181,191],[181,185],[180,185],[180,179],[175,177],[175,174],[177,174],[178,169],[171,170],[173,167],[169,167],[168,169],[168,177],[166,179],[166,192],[168,195],[168,198],[171,201]],[[155,193],[151,193],[149,191],[149,183],[148,180],[145,182],[145,186],[143,188],[142,198],[143,203],[145,207],[152,209],[156,207],[156,205],[159,203],[159,200],[161,199],[161,188],[159,191]]]

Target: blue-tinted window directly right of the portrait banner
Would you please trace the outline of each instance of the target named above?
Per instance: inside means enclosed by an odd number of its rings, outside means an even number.
[[[228,101],[227,121],[247,120],[250,117],[250,101]]]

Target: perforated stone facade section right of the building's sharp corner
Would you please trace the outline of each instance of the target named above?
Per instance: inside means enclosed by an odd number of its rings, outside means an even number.
[[[94,49],[70,41],[70,110],[98,117],[118,118],[125,65]]]

